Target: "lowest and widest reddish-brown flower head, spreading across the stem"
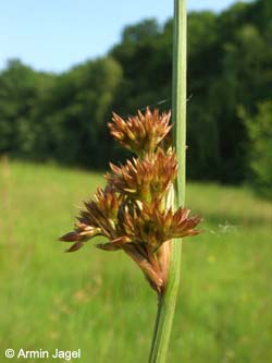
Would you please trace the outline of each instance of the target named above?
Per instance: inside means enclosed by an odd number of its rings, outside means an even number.
[[[97,246],[102,250],[115,251],[125,244],[145,245],[156,252],[162,243],[172,238],[195,235],[199,231],[194,228],[199,217],[189,217],[189,209],[162,208],[161,199],[152,203],[139,199],[127,202],[113,187],[98,189],[95,201],[85,203],[73,232],[64,234],[61,241],[75,242],[69,252],[81,249],[89,239],[103,235],[107,243]]]

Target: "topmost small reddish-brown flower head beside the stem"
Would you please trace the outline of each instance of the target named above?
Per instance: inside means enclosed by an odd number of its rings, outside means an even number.
[[[152,153],[171,130],[171,112],[159,113],[156,109],[146,109],[145,113],[138,111],[137,116],[123,120],[113,113],[109,123],[111,135],[125,148],[143,155]]]

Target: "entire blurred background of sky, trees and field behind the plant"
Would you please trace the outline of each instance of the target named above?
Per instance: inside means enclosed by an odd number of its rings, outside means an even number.
[[[272,3],[188,10],[187,204],[205,233],[184,243],[169,362],[270,362]],[[172,14],[168,0],[0,2],[1,361],[146,360],[156,297],[136,267],[55,240],[127,157],[111,112],[171,108]]]

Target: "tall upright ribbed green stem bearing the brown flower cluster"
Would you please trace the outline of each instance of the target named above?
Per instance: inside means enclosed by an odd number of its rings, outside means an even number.
[[[175,191],[175,205],[184,205],[185,203],[186,33],[186,0],[174,0],[172,120],[180,166]],[[171,243],[166,289],[159,298],[153,340],[149,356],[150,363],[163,363],[166,360],[180,286],[181,255],[182,241],[173,240]]]

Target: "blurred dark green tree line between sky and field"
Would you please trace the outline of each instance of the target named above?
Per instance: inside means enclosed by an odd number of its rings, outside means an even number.
[[[188,14],[187,177],[250,182],[270,196],[272,4]],[[171,107],[172,20],[126,26],[102,58],[52,74],[10,60],[0,73],[0,155],[104,168],[124,155],[112,110]]]

